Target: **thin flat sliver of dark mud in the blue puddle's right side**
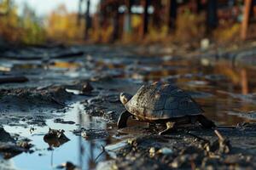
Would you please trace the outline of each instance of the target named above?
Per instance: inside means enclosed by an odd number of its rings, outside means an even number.
[[[80,130],[74,130],[73,133],[84,139],[104,139],[109,135],[105,129],[86,129],[83,127]]]

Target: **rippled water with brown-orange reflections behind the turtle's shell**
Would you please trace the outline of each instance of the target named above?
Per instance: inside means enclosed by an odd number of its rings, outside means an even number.
[[[146,82],[172,82],[194,92],[191,95],[203,106],[205,114],[220,125],[250,121],[244,118],[246,116],[228,115],[228,111],[241,111],[245,114],[247,111],[256,111],[256,75],[249,68],[234,67],[222,62],[201,65],[196,59],[170,60],[161,64],[141,61],[131,77]]]

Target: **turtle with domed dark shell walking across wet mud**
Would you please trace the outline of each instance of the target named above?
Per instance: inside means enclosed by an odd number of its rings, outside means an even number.
[[[127,127],[130,116],[138,121],[166,123],[166,129],[159,134],[172,133],[178,125],[200,122],[202,127],[215,127],[214,122],[203,116],[204,112],[192,97],[168,82],[154,82],[143,85],[135,95],[119,94],[121,103],[125,106],[117,123],[118,128]]]

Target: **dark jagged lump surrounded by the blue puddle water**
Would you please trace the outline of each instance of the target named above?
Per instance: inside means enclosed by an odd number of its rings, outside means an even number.
[[[59,147],[61,144],[65,144],[67,141],[69,141],[64,132],[64,130],[49,128],[49,132],[44,135],[44,142],[48,143],[50,147]]]

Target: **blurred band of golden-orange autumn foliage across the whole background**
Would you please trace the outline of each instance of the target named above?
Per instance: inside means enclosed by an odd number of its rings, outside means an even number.
[[[19,14],[18,14],[19,9]],[[176,30],[168,31],[165,23],[157,25],[153,17],[149,16],[148,34],[141,37],[139,32],[143,24],[142,17],[137,14],[131,16],[131,31],[123,31],[124,15],[119,19],[118,42],[200,42],[206,35],[205,15],[193,14],[191,11],[179,12]],[[84,19],[78,20],[77,13],[69,13],[64,4],[55,8],[50,14],[38,17],[32,7],[26,3],[20,14],[14,0],[0,0],[0,41],[39,44],[51,42],[84,42]],[[223,41],[236,40],[240,30],[239,24],[232,25],[219,20],[219,26],[213,31],[212,37]],[[90,42],[113,42],[113,17],[102,20],[100,14],[92,15],[92,27],[88,31]],[[230,29],[231,28],[231,29]]]

